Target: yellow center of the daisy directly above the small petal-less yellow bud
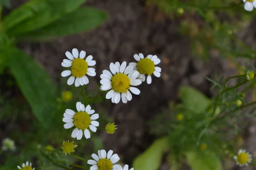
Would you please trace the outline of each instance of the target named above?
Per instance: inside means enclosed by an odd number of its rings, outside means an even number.
[[[78,129],[87,129],[91,122],[90,115],[86,112],[76,112],[73,116],[73,122]]]

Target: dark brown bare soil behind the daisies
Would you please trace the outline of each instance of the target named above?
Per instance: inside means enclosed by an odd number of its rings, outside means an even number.
[[[24,1],[14,0],[13,5],[19,6]],[[169,100],[178,99],[177,89],[181,85],[191,85],[212,96],[211,84],[204,77],[216,73],[235,75],[236,72],[227,60],[217,58],[214,53],[208,62],[196,59],[189,50],[189,38],[178,32],[179,20],[169,20],[156,7],[146,6],[145,0],[88,0],[86,5],[108,11],[107,22],[87,33],[47,43],[22,43],[20,47],[41,63],[56,82],[61,78],[64,53],[72,48],[93,55],[97,62],[94,79],[98,82],[99,75],[108,69],[110,62],[132,62],[133,55],[138,53],[156,54],[161,59],[160,78],[154,77],[151,85],[143,83],[139,87],[141,94],[133,95],[131,102],[112,104],[109,108],[109,116],[118,125],[116,133],[100,134],[105,149],[119,153],[122,160],[131,165],[132,160],[155,139],[148,133],[147,121],[166,108]],[[250,37],[247,34],[254,33],[244,32],[241,37]],[[253,38],[250,38],[247,43],[253,44]],[[256,125],[250,127],[250,133],[247,146],[256,155]],[[169,166],[163,163],[160,170],[169,170]]]

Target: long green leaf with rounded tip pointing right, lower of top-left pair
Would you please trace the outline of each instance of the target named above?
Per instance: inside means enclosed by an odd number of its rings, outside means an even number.
[[[30,32],[20,38],[29,41],[47,41],[54,37],[90,31],[101,25],[106,19],[107,14],[104,11],[92,7],[79,8],[49,26]]]

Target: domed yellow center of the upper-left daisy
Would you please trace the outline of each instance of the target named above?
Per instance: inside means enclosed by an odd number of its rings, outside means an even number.
[[[84,59],[73,59],[71,73],[74,77],[83,77],[87,73],[88,64]]]

